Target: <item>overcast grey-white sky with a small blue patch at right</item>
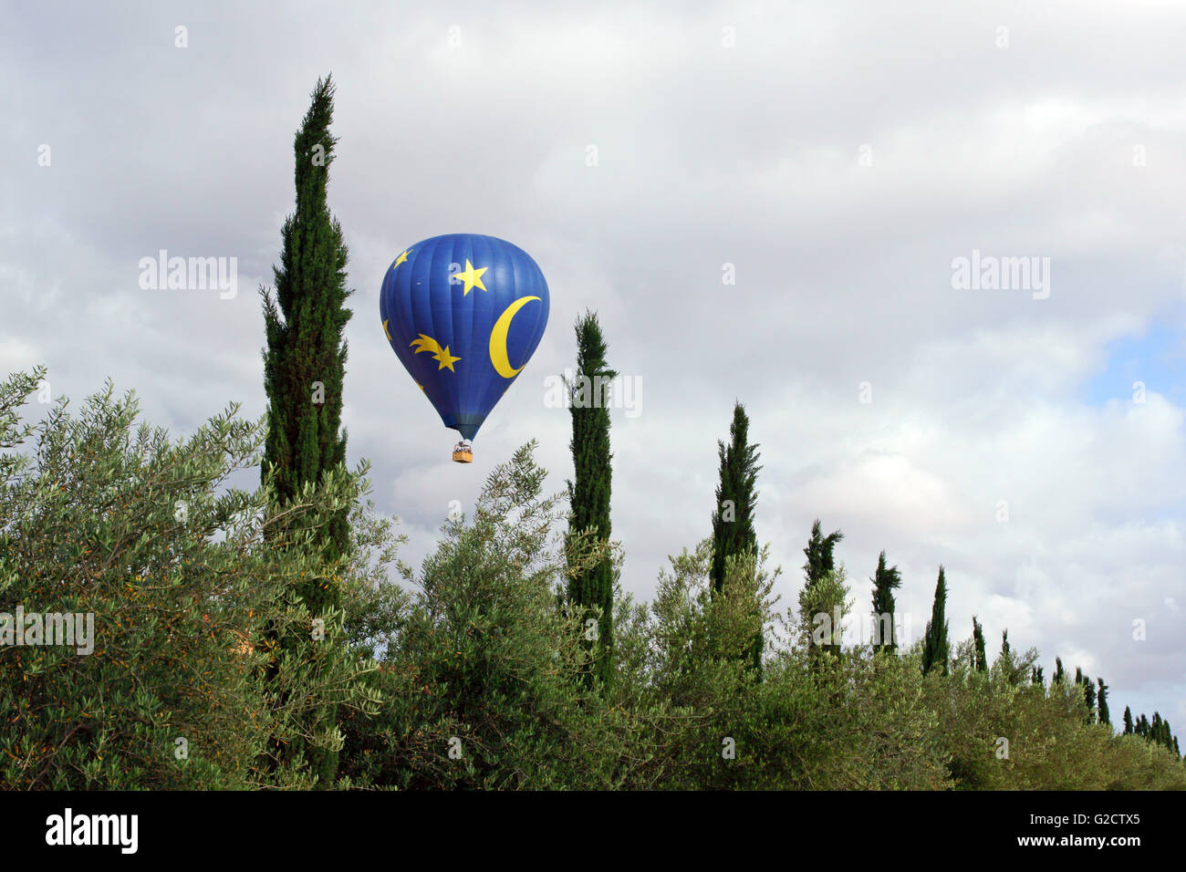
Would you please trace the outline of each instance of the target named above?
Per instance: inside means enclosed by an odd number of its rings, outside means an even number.
[[[1186,728],[1181,2],[11,2],[0,21],[5,373],[46,363],[76,399],[111,376],[178,433],[231,400],[262,414],[256,287],[332,71],[347,454],[406,559],[528,439],[563,486],[544,380],[592,307],[642,389],[613,413],[627,590],[650,597],[709,533],[741,400],[784,606],[820,517],[859,609],[885,548],[919,635],[942,562],[954,639],[976,613],[994,654],[1008,628],[1047,677],[1056,655],[1103,675],[1115,721],[1127,704]],[[393,257],[444,233],[516,243],[551,291],[472,467],[378,318]],[[236,257],[236,295],[141,288],[160,249]],[[961,287],[974,256],[1034,257],[1041,286]]]

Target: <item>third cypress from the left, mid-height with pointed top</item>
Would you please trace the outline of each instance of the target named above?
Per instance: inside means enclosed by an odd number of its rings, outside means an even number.
[[[716,509],[713,511],[713,593],[725,585],[726,561],[747,552],[758,553],[758,534],[753,529],[758,507],[758,446],[750,444],[750,416],[740,402],[733,406],[729,444],[718,441],[720,482],[716,485]],[[750,661],[761,668],[761,634],[754,638]]]

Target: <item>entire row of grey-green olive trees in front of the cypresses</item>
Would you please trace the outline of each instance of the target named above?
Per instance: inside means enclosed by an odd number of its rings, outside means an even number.
[[[1090,723],[1085,682],[1047,688],[1037,651],[1007,639],[981,669],[974,632],[946,675],[924,674],[922,641],[833,656],[841,639],[812,631],[850,607],[834,560],[776,617],[767,549],[726,560],[714,594],[700,542],[653,602],[616,592],[612,680],[589,685],[595,649],[563,594],[574,569],[617,572],[620,555],[568,530],[533,445],[414,571],[365,465],[302,488],[285,523],[266,489],[229,486],[259,463],[261,424],[231,408],[171,439],[110,388],[21,424],[39,377],[0,384],[0,611],[93,613],[95,648],[0,647],[5,787],[308,788],[304,749],[324,749],[340,788],[1186,789],[1160,713],[1114,736],[1102,682]],[[351,536],[330,559],[319,532],[342,511]],[[343,605],[311,612],[310,578]],[[318,618],[317,644],[269,644]],[[330,706],[338,727],[312,727]]]

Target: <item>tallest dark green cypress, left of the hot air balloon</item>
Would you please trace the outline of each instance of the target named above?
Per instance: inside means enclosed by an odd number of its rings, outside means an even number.
[[[282,510],[306,484],[320,484],[346,458],[346,434],[342,431],[342,383],[346,343],[343,332],[351,312],[345,307],[347,250],[342,225],[330,214],[326,185],[333,146],[333,83],[318,79],[308,112],[293,142],[295,154],[296,208],[285,221],[280,266],[273,269],[275,297],[261,291],[267,348],[263,351],[263,386],[268,396],[268,434],[261,476],[272,478],[274,505]],[[349,509],[338,513],[320,533],[329,559],[349,547]],[[275,535],[282,530],[275,529]],[[307,579],[299,597],[314,618],[339,604],[336,579]],[[308,644],[307,638],[272,639],[282,648]],[[325,644],[330,644],[326,642]],[[273,673],[274,674],[274,673]],[[312,730],[333,725],[332,707],[310,724]],[[300,744],[300,743],[296,743]],[[301,750],[329,785],[337,770],[337,753],[308,746]]]

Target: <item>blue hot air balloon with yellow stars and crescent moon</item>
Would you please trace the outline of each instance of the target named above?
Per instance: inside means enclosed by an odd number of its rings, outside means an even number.
[[[433,236],[404,249],[383,276],[383,331],[408,374],[461,441],[531,358],[548,325],[548,284],[523,249],[493,236]]]

